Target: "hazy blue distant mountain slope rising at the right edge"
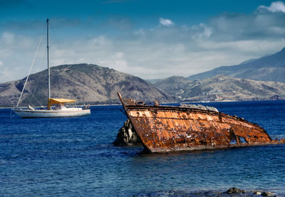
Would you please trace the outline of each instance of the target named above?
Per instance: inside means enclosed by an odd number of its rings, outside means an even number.
[[[239,65],[222,66],[204,73],[191,75],[188,80],[202,80],[224,74],[234,78],[285,82],[285,48],[274,55],[247,60]]]

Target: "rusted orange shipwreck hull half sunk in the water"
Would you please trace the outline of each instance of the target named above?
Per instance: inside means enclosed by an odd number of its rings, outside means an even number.
[[[285,144],[245,119],[190,107],[145,105],[118,92],[125,114],[151,152]]]

